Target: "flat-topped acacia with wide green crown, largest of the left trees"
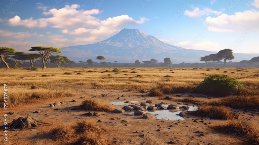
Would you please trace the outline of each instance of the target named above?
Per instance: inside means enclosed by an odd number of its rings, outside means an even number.
[[[46,69],[45,63],[48,61],[47,58],[56,53],[62,53],[62,50],[51,46],[35,46],[31,47],[29,51],[39,51],[42,56],[42,70]]]

